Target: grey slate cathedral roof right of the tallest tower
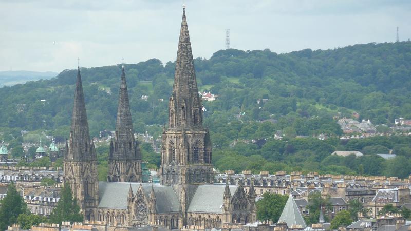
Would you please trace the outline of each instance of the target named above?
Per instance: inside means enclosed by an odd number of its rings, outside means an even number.
[[[230,193],[234,195],[237,185],[230,185]],[[188,211],[198,213],[221,213],[225,184],[199,185]],[[157,195],[156,195],[157,196]]]

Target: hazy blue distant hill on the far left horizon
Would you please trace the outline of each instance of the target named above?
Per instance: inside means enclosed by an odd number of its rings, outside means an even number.
[[[13,86],[16,84],[24,84],[28,81],[36,81],[41,79],[51,79],[59,73],[47,71],[0,71],[0,87]]]

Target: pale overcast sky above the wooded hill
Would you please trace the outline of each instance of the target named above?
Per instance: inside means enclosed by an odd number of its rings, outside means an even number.
[[[182,16],[176,1],[0,0],[0,71],[55,71],[174,61]],[[277,53],[411,37],[411,1],[186,0],[194,57],[225,48]],[[54,43],[55,42],[55,43]]]

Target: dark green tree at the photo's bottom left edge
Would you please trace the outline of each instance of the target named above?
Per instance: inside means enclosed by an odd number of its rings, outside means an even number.
[[[6,230],[7,226],[17,222],[19,215],[26,213],[26,203],[18,194],[15,185],[9,184],[6,197],[0,201],[0,230]]]

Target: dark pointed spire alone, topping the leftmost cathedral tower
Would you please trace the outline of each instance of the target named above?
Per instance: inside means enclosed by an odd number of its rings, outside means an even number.
[[[97,160],[96,152],[92,151],[90,143],[80,67],[77,68],[76,90],[74,91],[71,131],[68,143],[69,149],[65,157],[67,161]]]

